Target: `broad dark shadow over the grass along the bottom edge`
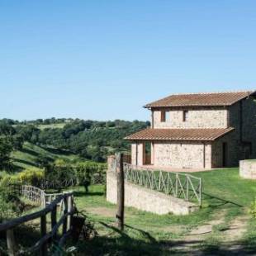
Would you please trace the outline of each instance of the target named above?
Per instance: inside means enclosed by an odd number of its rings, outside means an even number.
[[[126,225],[122,232],[114,225],[99,222],[109,232],[78,244],[78,254],[88,255],[254,255],[255,243],[216,244],[198,239],[157,240],[149,232]],[[131,236],[131,233],[136,232]],[[242,245],[242,246],[239,246]]]

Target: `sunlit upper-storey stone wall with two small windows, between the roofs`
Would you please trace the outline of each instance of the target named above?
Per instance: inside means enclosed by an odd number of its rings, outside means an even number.
[[[226,128],[227,113],[222,108],[188,108],[187,121],[183,121],[182,108],[168,109],[168,119],[161,122],[161,111],[153,110],[154,128]]]

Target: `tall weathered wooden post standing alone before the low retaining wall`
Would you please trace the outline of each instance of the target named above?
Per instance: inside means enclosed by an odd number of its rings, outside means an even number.
[[[124,230],[124,213],[125,213],[125,179],[123,154],[116,154],[116,178],[117,178],[117,226],[120,230]]]

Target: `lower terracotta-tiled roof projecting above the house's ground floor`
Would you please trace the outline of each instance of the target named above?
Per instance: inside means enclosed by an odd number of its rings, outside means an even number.
[[[148,128],[127,136],[125,140],[216,140],[234,130],[220,129],[152,129]]]

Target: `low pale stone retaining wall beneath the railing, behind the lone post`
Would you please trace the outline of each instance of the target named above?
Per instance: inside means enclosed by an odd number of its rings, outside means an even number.
[[[116,204],[117,200],[116,173],[107,172],[107,201]],[[156,192],[132,183],[125,183],[125,206],[133,206],[142,211],[159,215],[173,213],[187,215],[197,211],[199,206],[175,197]]]

